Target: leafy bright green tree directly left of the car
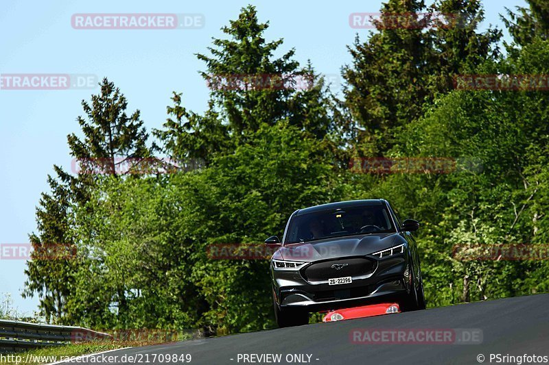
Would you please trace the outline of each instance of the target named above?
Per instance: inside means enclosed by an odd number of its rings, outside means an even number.
[[[272,326],[268,262],[211,260],[204,255],[206,244],[261,244],[272,234],[281,236],[296,207],[340,196],[332,166],[318,155],[314,138],[280,123],[264,125],[254,140],[198,175],[209,189],[206,206],[215,207],[204,219],[215,225],[202,236],[193,278],[209,304],[205,319],[219,333]]]

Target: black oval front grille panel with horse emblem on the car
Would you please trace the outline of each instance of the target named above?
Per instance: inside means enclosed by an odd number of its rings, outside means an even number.
[[[326,281],[334,277],[357,277],[373,273],[377,262],[363,257],[316,262],[301,273],[307,281]],[[339,269],[338,269],[339,268]]]

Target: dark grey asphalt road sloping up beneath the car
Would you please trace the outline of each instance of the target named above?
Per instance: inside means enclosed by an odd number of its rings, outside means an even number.
[[[549,362],[548,304],[549,294],[538,294],[336,323],[137,347],[113,351],[104,356],[118,357],[117,362],[110,364],[139,363],[139,359],[141,364],[152,364],[154,356],[156,364],[174,364],[167,362],[160,354],[190,354],[190,364],[479,364],[477,359],[480,354],[484,355],[484,364],[526,364],[527,360],[533,360],[522,357],[509,362],[511,358],[503,357],[524,354],[546,356]],[[364,331],[366,329],[368,332]],[[391,335],[395,329],[400,330],[397,333],[405,333],[406,337]],[[353,338],[362,342],[353,343]],[[420,343],[391,343],[392,338]],[[425,344],[425,339],[431,343]],[[259,358],[252,357],[252,354],[281,357],[280,360]],[[490,360],[490,354],[500,354],[500,362],[497,357]],[[96,355],[95,359],[88,357],[83,362],[81,360],[80,364],[105,364],[106,359],[100,359],[99,356]],[[542,357],[537,357],[537,362],[543,361]],[[177,363],[182,364],[179,361]]]

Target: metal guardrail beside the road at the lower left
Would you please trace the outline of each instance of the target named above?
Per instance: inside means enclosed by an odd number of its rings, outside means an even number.
[[[16,320],[0,320],[1,353],[70,344],[78,342],[82,338],[104,340],[113,338],[113,336],[82,327],[38,325]]]

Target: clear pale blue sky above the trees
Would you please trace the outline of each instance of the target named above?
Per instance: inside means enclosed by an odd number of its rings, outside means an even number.
[[[36,1],[4,0],[0,10],[0,74],[63,73],[107,76],[141,110],[150,131],[165,121],[172,91],[183,92],[187,108],[207,107],[208,88],[195,53],[206,52],[220,27],[253,3],[270,21],[268,40],[283,38],[281,51],[296,49],[296,60],[311,60],[316,71],[338,74],[350,62],[346,46],[355,34],[349,14],[378,12],[381,1]],[[522,0],[484,1],[486,21],[502,27],[498,14]],[[71,16],[82,13],[203,14],[201,29],[81,30]],[[47,191],[52,165],[71,170],[67,134],[77,132],[80,101],[93,90],[0,90],[0,243],[25,243],[36,230],[34,210]],[[20,312],[31,314],[38,299],[21,298],[24,260],[0,260],[0,293],[11,293]]]

